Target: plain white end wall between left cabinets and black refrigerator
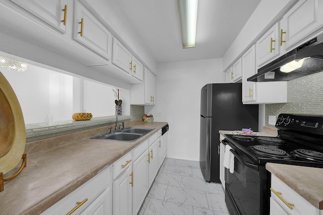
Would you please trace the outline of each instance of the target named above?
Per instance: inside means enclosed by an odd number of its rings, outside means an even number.
[[[199,161],[200,90],[225,82],[222,59],[159,63],[157,73],[156,105],[150,113],[170,125],[167,157]]]

